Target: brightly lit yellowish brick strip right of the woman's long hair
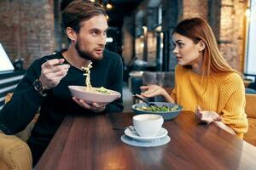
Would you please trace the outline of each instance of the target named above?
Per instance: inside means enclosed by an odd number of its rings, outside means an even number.
[[[223,0],[221,4],[219,49],[236,71],[243,71],[244,12],[246,3],[240,0]]]

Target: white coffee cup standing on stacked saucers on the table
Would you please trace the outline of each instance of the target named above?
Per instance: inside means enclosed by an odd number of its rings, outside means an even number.
[[[142,114],[133,116],[132,122],[141,137],[154,138],[160,132],[164,119],[160,115]]]

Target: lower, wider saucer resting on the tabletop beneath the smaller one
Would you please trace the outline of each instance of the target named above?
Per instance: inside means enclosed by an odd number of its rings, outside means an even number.
[[[168,135],[166,135],[165,137],[163,137],[161,139],[154,139],[154,140],[150,140],[149,142],[143,142],[143,141],[138,141],[138,140],[132,139],[132,138],[126,136],[125,134],[123,134],[121,136],[121,140],[125,144],[130,144],[133,146],[154,147],[154,146],[168,144],[171,141],[171,138]]]

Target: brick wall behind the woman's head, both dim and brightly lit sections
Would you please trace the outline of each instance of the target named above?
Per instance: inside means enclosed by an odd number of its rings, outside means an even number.
[[[236,71],[242,72],[246,6],[247,3],[241,0],[183,0],[179,10],[183,11],[183,19],[199,16],[208,20],[224,59]]]

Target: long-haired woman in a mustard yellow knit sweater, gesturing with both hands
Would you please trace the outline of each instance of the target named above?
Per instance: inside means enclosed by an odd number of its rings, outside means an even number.
[[[162,95],[184,111],[195,111],[199,121],[213,122],[242,139],[247,132],[244,84],[219,53],[211,27],[200,18],[183,20],[172,38],[178,65],[171,96],[156,85],[142,86],[141,95]]]

